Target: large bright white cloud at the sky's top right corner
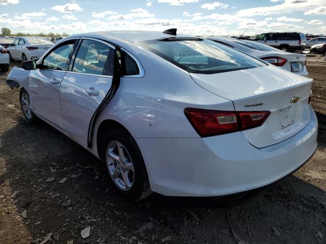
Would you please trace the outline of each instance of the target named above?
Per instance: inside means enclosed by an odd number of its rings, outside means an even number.
[[[316,8],[322,3],[326,3],[326,0],[285,0],[284,3],[274,6],[242,9],[236,14],[238,16],[255,16],[291,13],[294,11],[306,11],[307,9]]]

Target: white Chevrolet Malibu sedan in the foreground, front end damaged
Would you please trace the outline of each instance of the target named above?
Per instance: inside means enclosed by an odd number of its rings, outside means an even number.
[[[312,82],[176,29],[73,35],[7,78],[27,121],[105,162],[132,200],[225,196],[291,174],[317,145]]]

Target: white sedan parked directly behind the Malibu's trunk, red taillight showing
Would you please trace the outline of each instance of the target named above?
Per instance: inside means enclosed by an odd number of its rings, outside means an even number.
[[[283,52],[265,44],[238,38],[206,37],[206,39],[233,47],[294,74],[308,76],[305,54]]]

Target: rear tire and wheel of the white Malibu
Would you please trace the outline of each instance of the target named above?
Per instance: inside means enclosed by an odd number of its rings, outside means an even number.
[[[101,152],[108,177],[123,198],[138,201],[152,193],[141,151],[127,131],[121,128],[107,131]]]

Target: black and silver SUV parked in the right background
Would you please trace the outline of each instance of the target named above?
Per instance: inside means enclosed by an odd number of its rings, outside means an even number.
[[[258,35],[254,41],[290,52],[304,50],[307,39],[301,32],[270,32]]]

